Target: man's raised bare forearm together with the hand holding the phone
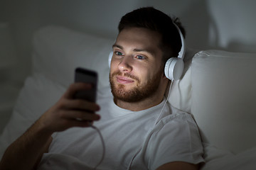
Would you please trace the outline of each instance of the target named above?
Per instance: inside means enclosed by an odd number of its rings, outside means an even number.
[[[43,153],[48,151],[53,132],[88,127],[89,121],[99,120],[99,115],[88,112],[100,109],[96,103],[73,98],[76,91],[90,88],[89,84],[72,84],[52,108],[6,149],[0,169],[34,169]]]

